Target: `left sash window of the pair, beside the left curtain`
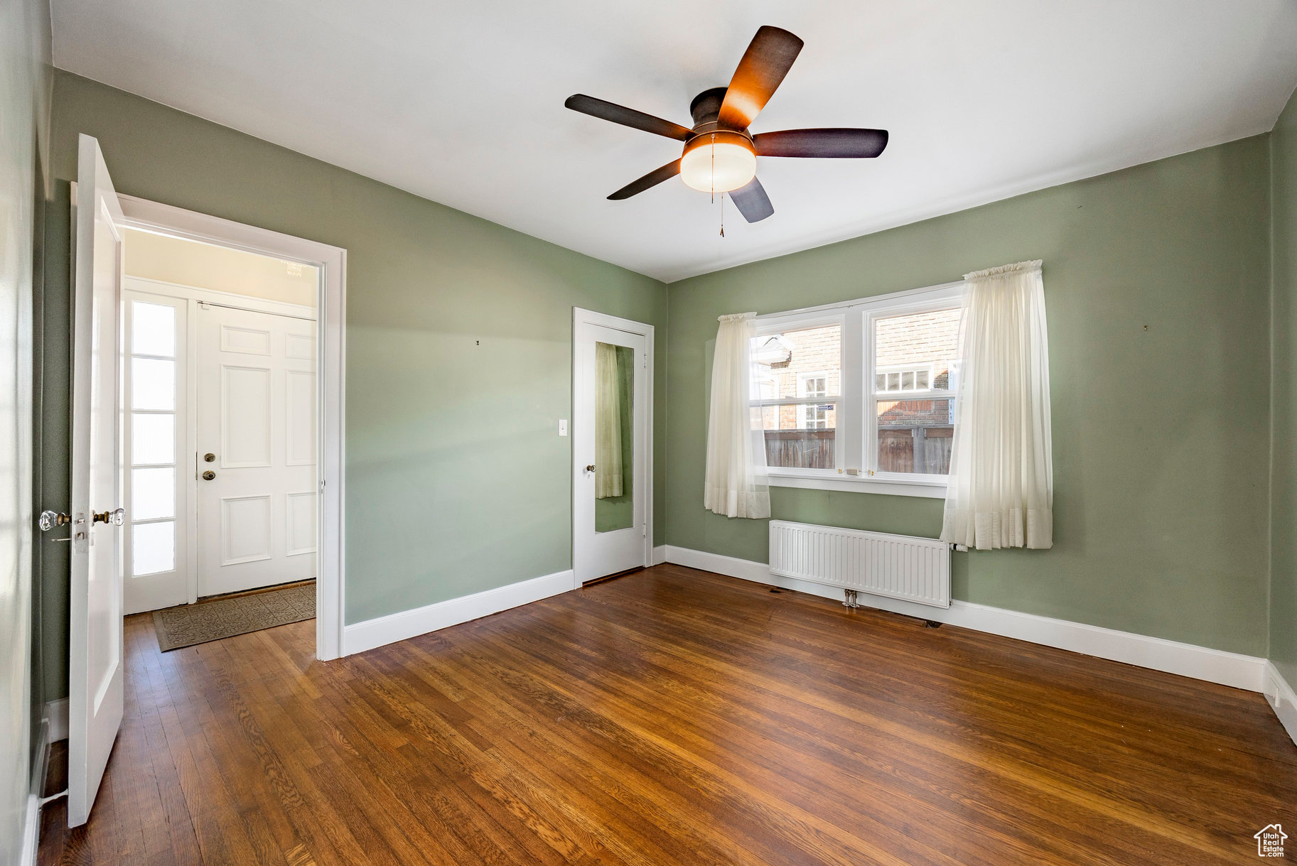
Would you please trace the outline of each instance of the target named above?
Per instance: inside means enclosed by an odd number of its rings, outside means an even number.
[[[818,323],[770,333],[759,329],[752,358],[767,465],[787,469],[838,465],[842,316],[820,318]]]

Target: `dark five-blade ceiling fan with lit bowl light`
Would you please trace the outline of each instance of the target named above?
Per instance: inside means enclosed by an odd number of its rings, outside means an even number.
[[[743,218],[755,223],[774,213],[756,179],[757,157],[859,159],[882,153],[887,146],[886,130],[781,130],[755,135],[748,131],[757,111],[765,108],[774,88],[789,74],[802,44],[779,27],[757,30],[729,87],[703,91],[690,102],[691,128],[584,93],[569,96],[563,105],[573,111],[685,143],[680,159],[628,183],[608,198],[629,198],[678,174],[694,189],[728,192]]]

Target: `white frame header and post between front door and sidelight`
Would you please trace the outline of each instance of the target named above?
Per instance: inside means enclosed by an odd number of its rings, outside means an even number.
[[[153,294],[185,302],[185,334],[184,334],[184,379],[185,379],[185,404],[176,412],[176,419],[183,417],[185,425],[185,442],[195,445],[198,441],[198,327],[197,309],[201,303],[209,303],[249,312],[266,312],[270,315],[292,316],[314,322],[319,328],[319,314],[315,307],[289,303],[287,301],[268,301],[254,298],[248,294],[235,294],[219,289],[205,289],[183,283],[167,283],[147,276],[122,277],[122,293],[134,292],[136,294]],[[318,389],[316,389],[318,390]],[[193,452],[193,449],[189,449]],[[188,458],[188,455],[185,455]],[[128,489],[126,478],[130,477],[123,452],[123,497]],[[176,464],[179,468],[179,463]],[[179,481],[178,481],[179,484]],[[189,467],[185,473],[185,509],[184,516],[176,517],[176,524],[184,522],[185,532],[185,603],[193,604],[198,600],[198,478],[195,467]]]

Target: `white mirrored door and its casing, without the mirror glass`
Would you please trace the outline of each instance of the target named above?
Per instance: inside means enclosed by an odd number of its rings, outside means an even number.
[[[630,525],[595,530],[595,345],[634,353],[632,388]],[[572,570],[575,586],[652,564],[652,342],[654,328],[588,310],[573,310],[572,341]],[[595,471],[589,471],[595,465]]]

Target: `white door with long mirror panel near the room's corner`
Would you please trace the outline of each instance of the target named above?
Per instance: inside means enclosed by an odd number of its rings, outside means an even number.
[[[576,324],[572,509],[577,582],[648,564],[647,338]]]

